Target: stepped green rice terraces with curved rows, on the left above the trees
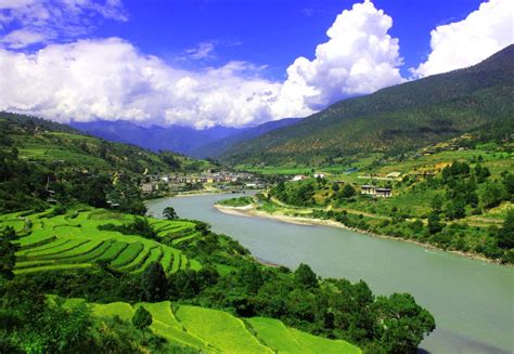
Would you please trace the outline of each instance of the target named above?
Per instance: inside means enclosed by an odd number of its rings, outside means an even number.
[[[56,217],[49,212],[0,215],[0,230],[12,226],[21,235],[15,273],[80,268],[99,261],[133,273],[143,272],[152,262],[160,262],[167,273],[202,267],[179,249],[137,235],[98,230],[99,225],[106,223],[129,223],[130,215],[102,209]],[[200,236],[192,222],[151,220],[151,223],[159,236],[187,240]]]

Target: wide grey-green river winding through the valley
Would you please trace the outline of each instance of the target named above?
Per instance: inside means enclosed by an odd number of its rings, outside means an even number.
[[[237,195],[153,200],[160,217],[172,206],[237,239],[258,259],[295,268],[309,264],[323,277],[363,279],[374,293],[410,292],[436,318],[421,344],[428,353],[514,353],[514,270],[457,254],[329,226],[224,214],[213,205]]]

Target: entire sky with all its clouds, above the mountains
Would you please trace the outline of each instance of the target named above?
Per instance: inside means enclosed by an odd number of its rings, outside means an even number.
[[[197,129],[479,63],[512,0],[0,0],[0,110]]]

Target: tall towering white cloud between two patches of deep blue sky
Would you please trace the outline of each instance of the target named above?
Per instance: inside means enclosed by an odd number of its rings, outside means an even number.
[[[393,19],[372,2],[357,3],[337,16],[316,57],[298,57],[287,68],[282,89],[283,115],[295,107],[318,110],[345,97],[374,92],[403,81],[398,39],[387,31]]]

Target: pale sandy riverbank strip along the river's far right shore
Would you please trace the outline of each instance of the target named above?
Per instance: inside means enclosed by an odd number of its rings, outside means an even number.
[[[399,238],[399,237],[393,237],[393,236],[387,236],[387,235],[382,235],[382,234],[376,234],[372,233],[370,231],[365,230],[360,230],[356,227],[348,227],[337,221],[334,220],[325,220],[325,219],[313,219],[313,218],[305,218],[305,217],[292,217],[292,215],[285,215],[282,213],[269,213],[262,210],[257,210],[255,205],[248,205],[245,207],[228,207],[228,206],[222,206],[219,204],[215,204],[214,207],[219,210],[220,212],[224,212],[227,214],[232,214],[232,215],[239,215],[239,217],[247,217],[247,218],[267,218],[267,219],[273,219],[278,220],[281,222],[290,223],[290,224],[297,224],[297,225],[311,225],[311,226],[330,226],[330,227],[337,227],[337,228],[344,228],[344,230],[349,230],[359,234],[364,234],[373,237],[380,237],[380,238],[385,238],[385,239],[391,239],[391,240],[397,240],[397,241],[403,241],[403,242],[409,242],[409,244],[414,244],[417,246],[421,246],[425,248],[426,250],[438,250],[438,251],[444,251],[444,252],[450,252],[453,254],[458,254],[461,257],[465,257],[468,259],[473,260],[479,260],[479,261],[485,261],[488,263],[496,263],[496,264],[501,264],[501,265],[510,265],[510,264],[504,264],[501,263],[498,260],[491,260],[486,257],[476,254],[476,253],[470,253],[470,252],[462,252],[462,251],[457,251],[457,250],[445,250],[441,248],[437,248],[433,245],[420,242],[414,239],[406,239],[406,238]],[[512,266],[512,265],[511,265]]]

